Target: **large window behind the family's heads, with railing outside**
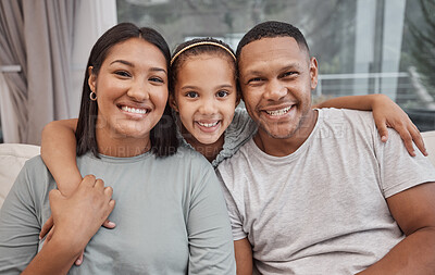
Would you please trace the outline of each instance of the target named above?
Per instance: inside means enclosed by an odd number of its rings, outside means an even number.
[[[304,34],[320,64],[314,100],[382,92],[435,129],[435,0],[117,0],[119,22],[158,29],[172,49],[212,36],[233,49],[262,21]],[[432,45],[431,45],[432,43]]]

